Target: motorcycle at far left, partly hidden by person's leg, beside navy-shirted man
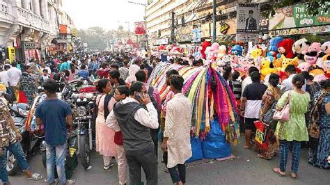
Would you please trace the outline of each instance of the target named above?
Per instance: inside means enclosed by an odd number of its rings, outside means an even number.
[[[28,130],[26,130],[25,122],[29,115],[29,105],[24,103],[18,104],[9,104],[9,112],[12,115],[13,120],[15,122],[16,127],[19,129],[19,133],[22,136],[22,149],[25,155],[33,154],[36,152],[37,148],[40,146],[42,140],[44,140],[43,134],[31,134]],[[20,167],[15,156],[7,151],[7,172],[8,175],[15,175],[19,172]]]

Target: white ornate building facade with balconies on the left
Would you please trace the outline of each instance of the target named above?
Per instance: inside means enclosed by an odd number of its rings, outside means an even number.
[[[49,54],[52,40],[60,37],[61,4],[61,0],[0,0],[1,61],[28,62]]]

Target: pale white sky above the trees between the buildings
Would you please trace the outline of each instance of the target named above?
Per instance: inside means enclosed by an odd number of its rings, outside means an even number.
[[[145,7],[134,3],[146,3],[147,0],[63,0],[63,9],[71,17],[77,29],[100,26],[103,29],[134,31],[134,22],[143,21]]]

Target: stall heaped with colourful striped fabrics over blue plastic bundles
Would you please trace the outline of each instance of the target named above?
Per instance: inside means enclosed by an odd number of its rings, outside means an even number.
[[[166,72],[172,69],[178,70],[184,78],[182,93],[192,103],[193,159],[189,161],[194,161],[196,155],[200,155],[201,152],[204,158],[230,156],[230,144],[238,143],[239,112],[228,83],[210,66],[191,67],[159,63],[148,83],[158,88],[163,100],[169,92],[169,87],[166,85]]]

